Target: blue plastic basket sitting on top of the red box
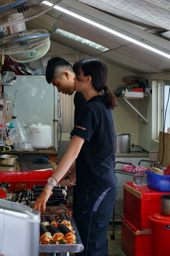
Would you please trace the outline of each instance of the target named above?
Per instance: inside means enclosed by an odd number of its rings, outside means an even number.
[[[170,192],[170,175],[158,175],[146,171],[146,178],[148,188],[161,192]]]

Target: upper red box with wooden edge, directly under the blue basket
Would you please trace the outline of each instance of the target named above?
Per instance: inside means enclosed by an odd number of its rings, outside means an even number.
[[[148,230],[148,216],[161,212],[160,195],[170,192],[159,192],[147,186],[136,186],[133,182],[124,183],[123,215],[139,230]]]

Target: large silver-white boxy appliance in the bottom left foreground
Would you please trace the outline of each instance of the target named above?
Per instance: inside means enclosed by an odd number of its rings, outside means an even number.
[[[39,240],[40,213],[26,205],[0,199],[0,253],[39,256]]]

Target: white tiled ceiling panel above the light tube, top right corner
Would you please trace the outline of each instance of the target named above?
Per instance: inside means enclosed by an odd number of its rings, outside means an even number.
[[[170,1],[156,0],[78,0],[114,15],[126,13],[153,25],[170,29]],[[132,19],[131,16],[126,16]]]

